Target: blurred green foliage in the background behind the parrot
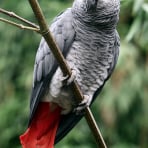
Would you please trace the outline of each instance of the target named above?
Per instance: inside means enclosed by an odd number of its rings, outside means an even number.
[[[72,3],[39,1],[48,22]],[[36,22],[28,1],[2,0],[1,7]],[[0,14],[0,16],[3,16]],[[5,16],[6,17],[6,16]],[[6,17],[9,18],[9,17]],[[10,18],[9,18],[10,19]],[[12,19],[12,18],[11,18]],[[112,78],[92,105],[111,148],[148,147],[148,3],[122,0],[118,31],[121,49]],[[0,22],[0,147],[20,148],[27,127],[29,96],[40,36]],[[83,119],[55,148],[96,147]]]

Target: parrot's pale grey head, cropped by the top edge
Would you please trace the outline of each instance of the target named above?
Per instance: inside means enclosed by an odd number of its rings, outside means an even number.
[[[120,0],[74,0],[73,4],[74,15],[79,20],[95,25],[109,22],[110,18],[118,21],[119,9]]]

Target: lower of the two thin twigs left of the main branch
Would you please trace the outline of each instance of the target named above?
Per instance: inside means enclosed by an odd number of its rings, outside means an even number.
[[[10,20],[7,20],[7,19],[1,18],[1,17],[0,17],[0,21],[8,23],[8,24],[13,25],[13,26],[16,26],[16,27],[18,27],[20,29],[31,30],[31,31],[36,31],[37,33],[40,33],[40,29],[37,29],[37,28],[34,28],[34,27],[25,26],[23,24],[17,24],[17,23],[15,23],[13,21],[10,21]]]

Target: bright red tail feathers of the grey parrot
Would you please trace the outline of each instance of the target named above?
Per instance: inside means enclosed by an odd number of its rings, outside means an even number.
[[[22,148],[53,148],[60,122],[61,108],[40,102],[27,131],[20,136]]]

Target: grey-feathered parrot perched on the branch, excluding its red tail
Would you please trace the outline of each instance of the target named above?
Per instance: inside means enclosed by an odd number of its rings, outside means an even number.
[[[115,68],[120,46],[116,30],[119,11],[120,0],[74,0],[72,8],[54,19],[50,31],[72,70],[70,78],[63,76],[45,40],[41,40],[34,65],[29,126],[36,112],[40,116],[42,101],[57,104],[61,111],[54,143],[83,117],[77,112],[95,100]],[[73,79],[84,95],[80,105],[70,87]]]

